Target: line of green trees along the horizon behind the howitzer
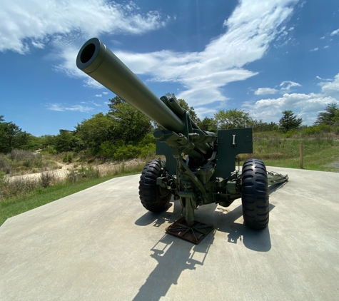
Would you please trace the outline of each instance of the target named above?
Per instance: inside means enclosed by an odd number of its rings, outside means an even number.
[[[173,93],[167,93],[166,96],[176,98]],[[216,133],[219,129],[251,127],[254,132],[293,133],[303,129],[308,134],[320,131],[339,133],[339,108],[335,103],[329,104],[323,112],[318,113],[313,126],[301,126],[302,118],[298,118],[290,110],[282,112],[278,123],[255,120],[248,112],[236,108],[220,110],[213,118],[205,117],[201,120],[185,100],[177,101],[203,131]],[[6,122],[4,116],[0,116],[0,153],[9,153],[13,149],[42,149],[48,153],[86,151],[94,156],[116,160],[143,157],[155,151],[152,133],[157,127],[150,118],[116,96],[109,100],[107,113],[98,113],[84,119],[75,126],[74,131],[60,130],[58,135],[36,137],[22,131],[15,123]]]

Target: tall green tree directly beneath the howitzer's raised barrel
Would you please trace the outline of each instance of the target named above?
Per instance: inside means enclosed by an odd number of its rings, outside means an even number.
[[[131,106],[122,98],[116,96],[109,100],[108,116],[114,120],[114,134],[128,142],[138,142],[152,129],[151,119]]]

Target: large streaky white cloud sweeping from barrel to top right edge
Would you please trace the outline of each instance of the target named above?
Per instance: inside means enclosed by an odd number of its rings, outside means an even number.
[[[257,72],[243,68],[262,58],[270,42],[283,32],[280,27],[292,14],[295,1],[245,0],[224,22],[226,32],[213,39],[201,52],[127,53],[116,55],[134,73],[150,76],[150,81],[178,82],[183,89],[178,98],[191,106],[225,101],[221,88],[232,81],[244,81]]]

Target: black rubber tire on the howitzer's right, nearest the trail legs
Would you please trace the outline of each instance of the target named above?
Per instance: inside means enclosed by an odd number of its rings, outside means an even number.
[[[263,230],[268,225],[270,214],[265,164],[258,159],[246,160],[243,163],[242,175],[243,220],[248,228]]]

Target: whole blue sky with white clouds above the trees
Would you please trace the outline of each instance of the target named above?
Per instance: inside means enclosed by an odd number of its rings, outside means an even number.
[[[114,94],[75,63],[94,36],[201,118],[292,110],[311,125],[339,104],[338,0],[4,0],[0,19],[0,115],[35,136],[108,111]]]

